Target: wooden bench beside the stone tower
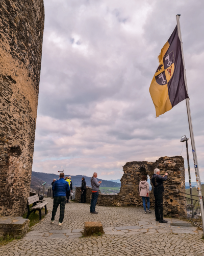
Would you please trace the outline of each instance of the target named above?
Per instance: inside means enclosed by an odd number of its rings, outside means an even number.
[[[39,211],[39,215],[40,215],[40,220],[42,219],[42,215],[41,215],[41,209],[44,207],[45,208],[45,214],[47,214],[47,204],[46,202],[43,202],[44,200],[39,200],[39,196],[38,195],[35,195],[35,196],[32,196],[32,197],[29,197],[28,198],[28,203],[27,203],[27,208],[28,208],[28,214],[27,214],[27,219],[29,218],[29,215],[34,212],[36,212],[36,210]],[[29,205],[30,204],[33,204],[32,207],[31,207],[31,210],[30,210],[30,207]]]

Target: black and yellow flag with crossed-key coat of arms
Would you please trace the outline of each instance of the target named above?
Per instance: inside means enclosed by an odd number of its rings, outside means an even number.
[[[181,41],[175,27],[159,55],[160,65],[151,81],[149,92],[155,104],[156,117],[188,98],[184,81]]]

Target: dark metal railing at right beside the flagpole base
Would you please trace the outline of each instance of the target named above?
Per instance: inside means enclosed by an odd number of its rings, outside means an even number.
[[[190,194],[185,194],[189,195]],[[192,197],[198,197],[193,196]],[[188,198],[186,196],[180,196],[180,214],[184,218],[192,221],[196,225],[202,227],[201,210],[199,200]]]

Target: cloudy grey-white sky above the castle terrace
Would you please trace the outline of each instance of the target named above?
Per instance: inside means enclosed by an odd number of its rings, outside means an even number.
[[[156,118],[148,91],[157,57],[181,14],[204,182],[203,1],[44,0],[44,6],[33,170],[120,179],[126,162],[180,154],[187,170],[180,142],[181,136],[190,137],[186,103]],[[190,140],[189,146],[195,181]]]

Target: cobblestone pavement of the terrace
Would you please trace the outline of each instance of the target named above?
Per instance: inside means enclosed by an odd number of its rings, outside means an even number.
[[[204,256],[202,231],[179,219],[167,224],[155,221],[138,207],[96,206],[97,215],[90,214],[90,204],[70,202],[62,226],[58,226],[59,210],[50,223],[53,200],[48,198],[48,215],[32,227],[23,239],[0,248],[0,255],[182,255]],[[85,221],[101,221],[105,234],[84,238]],[[174,226],[180,225],[180,226]],[[79,238],[81,237],[81,238]]]

